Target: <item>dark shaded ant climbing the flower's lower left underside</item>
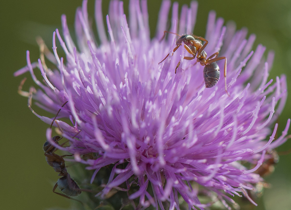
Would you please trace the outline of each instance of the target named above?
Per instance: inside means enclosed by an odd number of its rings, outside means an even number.
[[[67,102],[65,102],[61,107],[64,107],[65,104],[67,104]],[[58,113],[61,111],[61,109],[58,111]],[[56,114],[56,117],[58,116],[58,113]],[[54,118],[51,127],[56,119],[56,117]],[[61,140],[63,137],[60,136],[54,136],[52,139],[54,140],[55,143],[58,144],[58,141]],[[57,155],[54,153],[54,151],[56,151],[56,147],[54,147],[53,145],[51,145],[49,143],[49,141],[46,141],[43,145],[43,150],[45,151],[45,159],[47,161],[47,164],[49,164],[50,166],[52,166],[54,168],[54,170],[56,172],[58,172],[58,176],[62,176],[61,178],[58,179],[58,181],[56,182],[54,188],[53,188],[53,192],[67,197],[69,199],[73,199],[69,196],[77,196],[80,195],[81,192],[83,190],[81,190],[78,186],[78,184],[70,177],[70,174],[67,172],[66,166],[65,166],[65,160],[63,159],[63,157],[65,156],[72,156],[72,155]],[[55,192],[56,188],[59,188],[64,194]],[[76,199],[73,199],[76,200]],[[77,200],[79,201],[79,200]],[[81,201],[79,201],[81,202]],[[82,202],[81,202],[82,203]]]

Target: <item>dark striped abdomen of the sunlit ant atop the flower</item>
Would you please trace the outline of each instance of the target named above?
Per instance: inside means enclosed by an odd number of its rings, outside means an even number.
[[[212,88],[219,80],[220,71],[216,62],[205,65],[203,70],[203,77],[206,88]]]

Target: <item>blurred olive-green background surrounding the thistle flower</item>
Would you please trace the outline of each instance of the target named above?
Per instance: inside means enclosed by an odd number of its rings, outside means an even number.
[[[108,2],[103,1],[103,15],[107,14]],[[189,5],[189,0],[179,1]],[[27,98],[17,94],[17,87],[24,76],[28,77],[24,90],[32,85],[29,74],[13,77],[13,72],[26,65],[26,50],[30,51],[31,61],[39,58],[36,36],[41,36],[48,47],[52,47],[52,33],[61,29],[61,15],[67,15],[69,28],[73,29],[75,10],[80,1],[1,1],[1,209],[48,209],[68,208],[70,200],[52,193],[57,173],[45,163],[42,145],[48,125],[41,122],[27,107]],[[128,14],[128,1],[124,1]],[[151,34],[154,34],[160,1],[148,1]],[[88,2],[89,15],[93,17],[94,1]],[[270,78],[286,74],[291,91],[291,1],[290,0],[246,0],[208,1],[198,0],[198,17],[194,33],[205,35],[205,25],[210,10],[225,22],[233,20],[237,29],[247,27],[249,34],[255,33],[259,43],[267,50],[275,51],[274,66]],[[128,17],[128,16],[127,16]],[[288,97],[284,113],[279,119],[279,131],[284,129],[291,117]],[[36,108],[36,106],[34,106]],[[45,115],[45,113],[40,112]],[[53,116],[53,115],[49,115]],[[291,134],[291,130],[289,132]],[[291,148],[290,140],[278,151]],[[272,183],[265,189],[258,207],[242,204],[241,209],[289,210],[291,209],[291,154],[281,156],[275,172],[266,178]]]

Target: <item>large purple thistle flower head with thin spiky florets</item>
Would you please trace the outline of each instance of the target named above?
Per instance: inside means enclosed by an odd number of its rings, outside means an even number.
[[[235,202],[227,194],[244,195],[253,202],[246,190],[263,181],[255,171],[271,158],[267,150],[287,140],[290,126],[289,119],[282,135],[274,140],[278,124],[270,127],[287,97],[284,75],[275,82],[267,79],[274,54],[269,52],[264,59],[262,45],[251,51],[254,35],[247,38],[246,29],[223,26],[223,19],[216,19],[211,12],[205,51],[227,58],[230,96],[224,90],[224,78],[213,88],[205,88],[204,66],[196,59],[183,59],[189,56],[184,47],[171,53],[177,36],[168,34],[161,41],[165,30],[192,34],[197,2],[189,8],[183,6],[180,18],[178,4],[174,3],[168,29],[171,3],[163,1],[153,39],[146,4],[130,1],[127,23],[123,2],[111,1],[105,29],[101,1],[96,0],[99,44],[88,19],[86,0],[76,13],[78,45],[72,41],[63,15],[63,34],[56,29],[53,54],[46,53],[55,69],[50,70],[40,59],[31,63],[27,51],[27,66],[15,76],[29,71],[39,89],[31,88],[22,95],[32,94],[40,108],[54,114],[68,101],[58,118],[70,119],[71,124],[55,120],[53,125],[70,140],[70,146],[57,145],[51,129],[47,130],[47,139],[58,149],[74,154],[75,161],[87,165],[87,170],[94,170],[91,183],[100,176],[101,168],[111,166],[107,183],[98,193],[101,197],[126,183],[122,190],[139,208],[152,205],[164,209],[167,205],[168,209],[180,209],[182,197],[189,208],[205,209],[218,200],[230,209]],[[58,56],[56,39],[65,58]],[[217,63],[223,69],[224,61]],[[35,68],[40,70],[43,82],[36,78]],[[52,118],[33,113],[52,123]],[[91,153],[94,158],[82,158]],[[211,193],[216,199],[202,204],[200,195],[211,197]]]

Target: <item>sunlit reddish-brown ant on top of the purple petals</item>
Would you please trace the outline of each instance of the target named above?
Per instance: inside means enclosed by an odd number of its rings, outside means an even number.
[[[189,35],[189,34],[180,36],[177,33],[164,31],[164,35],[162,39],[165,37],[166,33],[172,33],[180,37],[176,42],[177,46],[173,49],[173,53],[182,44],[184,44],[184,48],[187,50],[189,54],[192,55],[192,57],[185,56],[184,59],[193,60],[196,57],[197,62],[200,63],[200,65],[205,66],[203,70],[203,77],[204,77],[206,88],[212,88],[213,86],[217,84],[220,77],[220,71],[219,71],[219,66],[217,65],[216,61],[225,59],[225,62],[224,62],[225,92],[227,93],[228,96],[230,96],[226,87],[226,57],[217,57],[219,52],[216,52],[207,58],[207,53],[204,51],[204,49],[207,46],[208,41],[203,37],[196,36],[196,35]],[[202,45],[201,41],[204,41],[205,44]],[[168,54],[160,63],[162,63],[169,55],[170,54]],[[175,74],[179,66],[180,66],[180,61],[176,66]]]

